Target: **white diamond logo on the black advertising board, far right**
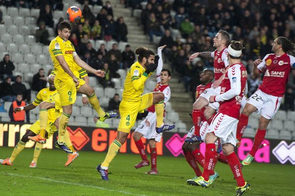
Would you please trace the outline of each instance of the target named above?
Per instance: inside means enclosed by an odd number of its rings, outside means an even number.
[[[285,164],[289,160],[292,165],[295,165],[295,142],[288,145],[285,141],[281,141],[278,146],[273,148],[272,154],[281,164]]]

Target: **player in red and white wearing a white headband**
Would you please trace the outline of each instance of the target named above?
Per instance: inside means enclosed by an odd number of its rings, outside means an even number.
[[[238,41],[232,41],[228,47],[230,66],[222,79],[220,95],[210,96],[209,98],[210,103],[220,102],[220,107],[219,112],[210,124],[210,130],[207,131],[205,138],[204,172],[202,176],[189,182],[195,186],[210,186],[209,173],[211,170],[214,170],[217,162],[217,152],[214,143],[220,139],[223,153],[226,155],[228,164],[237,181],[236,196],[242,196],[250,189],[250,184],[245,182],[243,178],[239,159],[234,151],[240,101],[244,96],[247,81],[247,71],[240,59],[242,49],[243,46]]]

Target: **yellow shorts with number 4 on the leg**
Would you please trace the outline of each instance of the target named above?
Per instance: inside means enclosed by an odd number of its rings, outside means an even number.
[[[131,127],[136,122],[138,113],[143,112],[149,106],[152,105],[153,93],[147,93],[141,96],[139,102],[131,102],[122,100],[119,105],[120,122],[118,125],[118,131],[129,133]]]

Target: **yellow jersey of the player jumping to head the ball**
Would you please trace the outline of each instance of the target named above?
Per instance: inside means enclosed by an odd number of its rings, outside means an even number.
[[[75,65],[73,56],[76,54],[76,50],[73,44],[69,40],[64,41],[59,36],[57,36],[50,42],[49,54],[53,62],[56,75],[59,78],[70,77],[69,74],[65,73],[65,71],[62,69],[56,56],[63,55],[64,60],[68,64],[70,70],[74,72]]]

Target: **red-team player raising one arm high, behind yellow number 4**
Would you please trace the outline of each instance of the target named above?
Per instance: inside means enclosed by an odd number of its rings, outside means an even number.
[[[154,92],[162,92],[164,94],[164,104],[166,104],[171,97],[171,90],[169,87],[171,72],[167,69],[163,69],[162,49],[164,49],[165,47],[166,45],[159,47],[157,51],[159,55],[159,62],[156,70],[157,84],[154,88]],[[156,143],[161,141],[162,134],[158,134],[156,132],[156,113],[154,105],[148,108],[148,116],[143,122],[138,125],[133,134],[133,139],[135,141],[136,147],[142,157],[142,161],[134,166],[136,169],[149,166],[149,161],[141,137],[145,137],[146,139],[148,139],[148,145],[150,149],[151,169],[146,173],[158,174]]]

